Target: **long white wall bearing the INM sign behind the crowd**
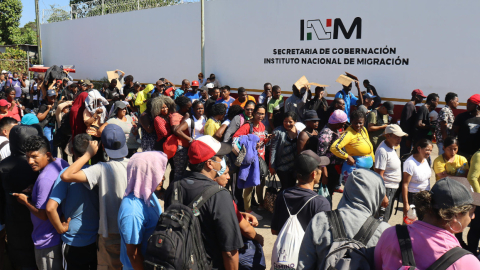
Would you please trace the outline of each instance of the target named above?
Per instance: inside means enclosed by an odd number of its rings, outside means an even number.
[[[477,89],[480,1],[215,0],[206,2],[206,73],[231,87],[284,92],[302,75],[341,89],[348,71],[369,79],[382,97],[408,99],[416,88],[449,91],[460,101]],[[362,38],[300,41],[300,20],[341,18],[345,27],[362,18]],[[330,27],[333,28],[333,27]],[[305,32],[310,31],[305,27]],[[166,77],[179,84],[200,71],[200,4],[134,11],[42,25],[46,65],[75,64],[75,77],[99,79],[119,68],[135,80]],[[394,55],[273,55],[283,48],[396,48]],[[264,58],[408,58],[408,65],[264,64]],[[468,79],[467,79],[468,78]]]

